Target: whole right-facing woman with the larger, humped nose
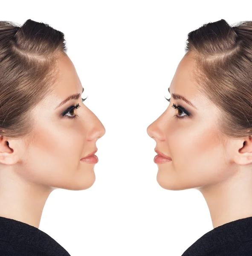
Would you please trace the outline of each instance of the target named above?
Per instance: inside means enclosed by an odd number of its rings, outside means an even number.
[[[95,182],[105,128],[82,102],[84,88],[64,34],[48,24],[0,21],[0,255],[70,255],[39,230],[57,189]]]

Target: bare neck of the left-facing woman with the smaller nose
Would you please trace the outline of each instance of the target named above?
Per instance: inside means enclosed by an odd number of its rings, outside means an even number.
[[[226,180],[198,190],[209,207],[213,228],[252,216],[252,172],[249,169],[241,168]]]

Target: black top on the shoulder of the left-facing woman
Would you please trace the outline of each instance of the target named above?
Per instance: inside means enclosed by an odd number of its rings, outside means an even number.
[[[252,217],[215,227],[182,256],[252,256]]]

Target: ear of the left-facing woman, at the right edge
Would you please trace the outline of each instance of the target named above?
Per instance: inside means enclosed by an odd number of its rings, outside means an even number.
[[[252,137],[235,140],[235,153],[233,160],[238,165],[246,165],[252,163]]]

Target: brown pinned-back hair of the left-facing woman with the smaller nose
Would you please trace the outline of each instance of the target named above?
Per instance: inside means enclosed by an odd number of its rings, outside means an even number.
[[[194,56],[197,89],[220,110],[221,134],[252,134],[252,21],[204,24],[188,33],[185,52]]]

